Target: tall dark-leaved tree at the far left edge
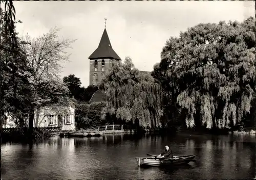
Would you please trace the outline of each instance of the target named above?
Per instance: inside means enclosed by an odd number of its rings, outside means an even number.
[[[17,38],[16,45],[12,45],[12,36],[5,28],[6,23],[5,12],[1,9],[1,119],[5,120],[7,112],[15,119],[16,124],[22,125],[23,113],[27,110],[24,92],[28,90],[30,69],[26,63],[26,55],[20,48],[20,39]],[[15,26],[13,31],[15,32]]]

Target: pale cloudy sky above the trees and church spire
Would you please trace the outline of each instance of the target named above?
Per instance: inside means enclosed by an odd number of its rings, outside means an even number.
[[[159,63],[163,46],[170,37],[199,23],[221,20],[239,22],[255,17],[254,1],[14,1],[20,36],[38,37],[50,29],[76,39],[70,61],[62,63],[61,76],[75,74],[82,86],[89,85],[88,57],[98,47],[104,31],[122,61],[132,58],[135,67],[152,71]]]

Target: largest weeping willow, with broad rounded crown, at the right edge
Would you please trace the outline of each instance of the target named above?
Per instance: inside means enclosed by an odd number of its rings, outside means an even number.
[[[152,75],[172,106],[185,114],[187,127],[230,127],[250,113],[255,32],[251,17],[242,23],[198,24],[166,42]]]

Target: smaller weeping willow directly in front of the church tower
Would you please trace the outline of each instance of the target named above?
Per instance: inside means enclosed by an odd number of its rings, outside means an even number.
[[[130,58],[114,62],[99,85],[106,93],[107,105],[102,118],[115,115],[119,120],[138,122],[141,127],[162,127],[162,89],[150,74],[141,73]]]

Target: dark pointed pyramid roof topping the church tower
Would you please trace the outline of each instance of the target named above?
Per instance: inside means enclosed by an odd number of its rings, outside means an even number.
[[[89,57],[89,59],[99,58],[113,58],[116,60],[121,60],[121,58],[116,54],[116,52],[112,48],[108,33],[106,33],[106,29],[104,29],[98,48]]]

